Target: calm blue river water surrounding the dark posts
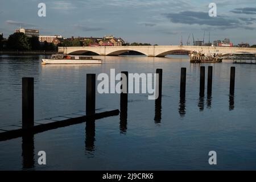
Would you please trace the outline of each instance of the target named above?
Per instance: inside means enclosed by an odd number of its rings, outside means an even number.
[[[212,64],[212,97],[199,98],[200,65],[186,56],[101,57],[102,65],[41,65],[40,57],[0,56],[0,126],[21,121],[22,77],[35,78],[35,119],[43,119],[85,110],[86,73],[163,68],[162,109],[146,94],[130,94],[127,123],[118,115],[0,142],[0,169],[256,169],[256,65],[235,65],[232,99],[233,64]],[[185,102],[179,99],[181,67],[187,68]],[[119,109],[119,95],[97,94],[96,108]],[[41,150],[46,166],[37,162]],[[208,164],[212,150],[217,166]]]

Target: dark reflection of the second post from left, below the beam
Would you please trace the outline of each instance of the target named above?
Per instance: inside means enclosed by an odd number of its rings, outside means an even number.
[[[86,121],[85,133],[85,150],[94,151],[95,120]]]

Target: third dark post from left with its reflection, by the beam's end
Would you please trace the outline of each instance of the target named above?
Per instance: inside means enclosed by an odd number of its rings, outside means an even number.
[[[123,78],[123,77],[126,77]],[[127,105],[128,105],[128,72],[121,72],[121,94],[120,94],[120,132],[127,130]]]

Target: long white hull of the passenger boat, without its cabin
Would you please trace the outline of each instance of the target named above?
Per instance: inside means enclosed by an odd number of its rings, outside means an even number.
[[[42,59],[42,64],[101,64],[102,60],[67,60],[67,59]]]

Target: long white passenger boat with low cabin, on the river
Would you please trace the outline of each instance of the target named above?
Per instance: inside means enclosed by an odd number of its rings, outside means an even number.
[[[52,55],[50,59],[42,59],[42,64],[101,64],[101,59],[78,55]]]

